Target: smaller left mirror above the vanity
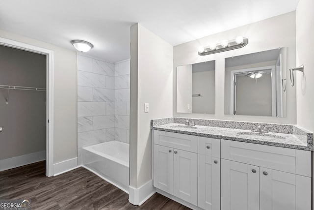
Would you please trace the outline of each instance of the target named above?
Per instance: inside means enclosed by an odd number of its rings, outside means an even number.
[[[215,60],[177,67],[177,113],[215,113]]]

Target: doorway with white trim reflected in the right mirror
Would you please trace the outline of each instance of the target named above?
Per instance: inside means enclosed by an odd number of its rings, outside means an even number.
[[[231,71],[231,113],[276,116],[275,66]]]

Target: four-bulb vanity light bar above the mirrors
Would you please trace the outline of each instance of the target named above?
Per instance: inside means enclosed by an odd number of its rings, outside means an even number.
[[[244,47],[249,43],[249,39],[243,36],[238,36],[233,40],[222,40],[221,43],[211,43],[207,47],[200,47],[198,49],[198,55],[207,56],[214,53],[225,52],[229,50],[235,50],[237,48]]]

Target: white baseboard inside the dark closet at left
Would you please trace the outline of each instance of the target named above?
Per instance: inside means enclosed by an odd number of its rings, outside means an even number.
[[[46,150],[0,160],[0,171],[24,166],[46,159]]]

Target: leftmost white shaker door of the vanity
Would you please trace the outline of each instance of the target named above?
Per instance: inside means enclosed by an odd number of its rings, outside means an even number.
[[[173,149],[154,145],[154,186],[173,194]]]

